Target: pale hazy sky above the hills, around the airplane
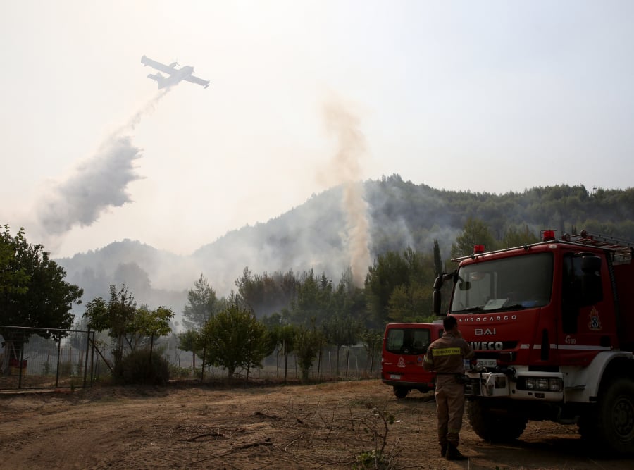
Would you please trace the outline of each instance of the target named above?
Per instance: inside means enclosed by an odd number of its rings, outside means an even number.
[[[0,224],[189,254],[340,182],[333,101],[363,180],[632,187],[633,24],[629,0],[4,1]],[[161,96],[143,54],[211,85]]]

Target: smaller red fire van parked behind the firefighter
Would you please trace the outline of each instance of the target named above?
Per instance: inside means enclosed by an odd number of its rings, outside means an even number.
[[[404,398],[411,390],[434,390],[436,374],[423,369],[427,347],[442,336],[442,320],[433,323],[388,323],[383,335],[381,378]]]

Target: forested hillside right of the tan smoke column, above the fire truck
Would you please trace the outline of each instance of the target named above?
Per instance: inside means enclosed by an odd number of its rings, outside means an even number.
[[[434,239],[450,244],[468,218],[483,221],[498,240],[507,228],[526,226],[537,235],[546,228],[559,234],[577,228],[634,240],[634,188],[590,192],[583,185],[558,185],[489,194],[436,190],[392,175],[368,181],[366,198],[374,254],[430,249]]]

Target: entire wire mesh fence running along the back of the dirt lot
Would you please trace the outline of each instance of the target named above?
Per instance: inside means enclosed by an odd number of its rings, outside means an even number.
[[[170,379],[197,379],[201,382],[227,378],[223,367],[213,366],[209,357],[178,349],[175,337],[161,338],[148,345],[169,364]],[[111,376],[113,364],[111,338],[92,330],[59,330],[0,326],[0,390],[85,388]],[[123,356],[131,352],[126,342]],[[312,381],[334,378],[373,378],[380,373],[380,356],[368,357],[360,347],[325,348],[309,371]],[[345,354],[344,354],[344,350]],[[338,360],[337,360],[338,359]],[[297,380],[301,376],[297,357],[272,354],[262,367],[239,369],[235,377],[247,379]]]

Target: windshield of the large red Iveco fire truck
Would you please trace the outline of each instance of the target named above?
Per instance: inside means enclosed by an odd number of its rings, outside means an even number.
[[[552,292],[552,254],[535,253],[461,266],[449,311],[521,310],[543,307]]]

